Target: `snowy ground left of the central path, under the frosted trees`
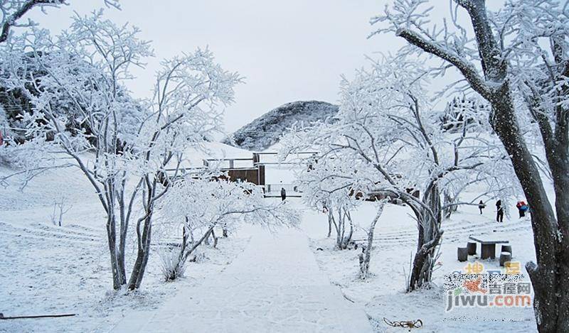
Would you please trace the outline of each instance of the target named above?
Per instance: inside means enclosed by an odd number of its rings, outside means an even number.
[[[2,169],[1,173],[11,170]],[[63,226],[50,223],[53,202],[73,206]],[[73,168],[46,172],[23,192],[2,190],[0,199],[0,312],[5,316],[75,313],[58,319],[1,320],[0,332],[108,332],[134,310],[153,310],[176,290],[201,285],[245,249],[247,236],[203,247],[186,278],[165,283],[157,251],[151,254],[142,290],[112,291],[105,219],[92,188]],[[134,257],[132,253],[127,257]],[[156,249],[156,248],[154,248]]]

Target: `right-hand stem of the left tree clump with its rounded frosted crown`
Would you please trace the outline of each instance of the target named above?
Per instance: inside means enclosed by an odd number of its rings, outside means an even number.
[[[138,288],[144,275],[154,205],[171,186],[169,173],[178,175],[188,147],[199,147],[205,138],[220,131],[223,114],[216,108],[233,102],[233,86],[240,80],[237,73],[217,65],[209,50],[163,62],[156,77],[151,116],[143,121],[133,148],[139,155],[138,170],[142,171],[139,184],[144,215],[137,221],[139,250],[129,288]],[[172,166],[174,171],[169,170]]]

